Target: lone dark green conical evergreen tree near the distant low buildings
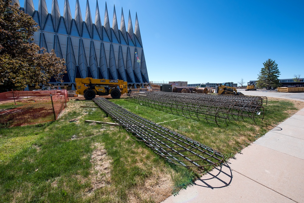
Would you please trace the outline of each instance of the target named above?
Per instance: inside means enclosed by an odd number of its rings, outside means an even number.
[[[264,67],[261,69],[260,74],[257,78],[257,87],[270,89],[277,88],[280,85],[278,79],[280,71],[278,69],[278,64],[275,63],[275,60],[268,59],[263,63]]]

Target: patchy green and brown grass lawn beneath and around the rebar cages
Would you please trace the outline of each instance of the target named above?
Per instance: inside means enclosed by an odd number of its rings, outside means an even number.
[[[71,99],[55,122],[0,129],[0,202],[160,202],[212,169],[169,164],[121,126],[85,123],[113,121],[99,108],[80,108],[95,105],[81,98]],[[126,99],[110,101],[228,159],[299,109],[292,101],[269,100],[259,126],[250,119],[217,126]]]

